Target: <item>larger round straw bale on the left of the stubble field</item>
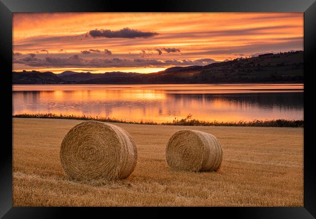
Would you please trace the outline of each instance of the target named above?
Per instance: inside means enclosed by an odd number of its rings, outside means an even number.
[[[61,143],[60,163],[80,181],[117,180],[128,177],[136,166],[137,148],[122,128],[86,121],[71,128]]]

